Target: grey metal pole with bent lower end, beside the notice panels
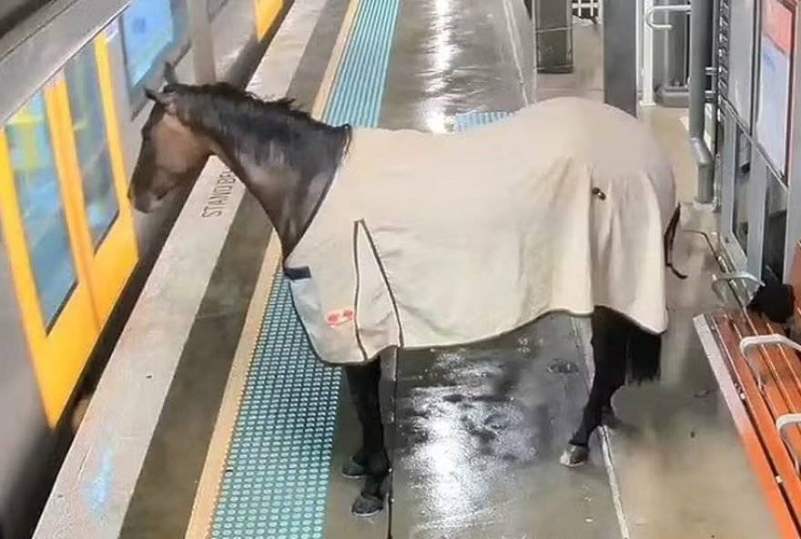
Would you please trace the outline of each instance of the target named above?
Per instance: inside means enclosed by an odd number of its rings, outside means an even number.
[[[690,6],[690,146],[698,164],[695,199],[702,204],[715,197],[712,152],[705,141],[706,67],[712,60],[712,0],[693,0]]]

